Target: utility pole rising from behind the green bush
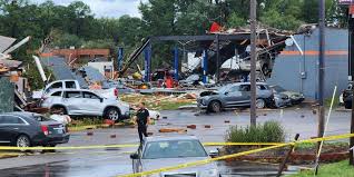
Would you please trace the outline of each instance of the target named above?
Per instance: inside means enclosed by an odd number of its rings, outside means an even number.
[[[256,110],[256,17],[257,0],[250,0],[250,126],[257,125]]]

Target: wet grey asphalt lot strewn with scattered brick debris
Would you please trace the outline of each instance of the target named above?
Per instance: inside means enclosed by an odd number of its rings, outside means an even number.
[[[225,132],[229,126],[247,126],[249,112],[235,114],[227,111],[195,116],[188,110],[163,111],[167,119],[160,119],[148,131],[154,136],[161,135],[160,128],[186,128],[187,125],[196,125],[196,129],[188,129],[187,135],[197,136],[203,142],[224,141]],[[301,134],[301,139],[316,136],[317,115],[311,109],[285,109],[273,111],[259,111],[257,122],[266,120],[278,120],[285,127],[287,140],[295,134]],[[229,124],[225,124],[229,120]],[[205,128],[210,125],[212,128]],[[334,111],[331,116],[327,135],[346,134],[350,131],[350,112]],[[110,138],[116,135],[116,138]],[[170,134],[163,134],[169,136]],[[87,146],[87,145],[114,145],[114,144],[137,144],[137,130],[134,128],[98,129],[92,136],[86,131],[72,132],[69,144],[62,146]],[[210,150],[215,147],[207,147]],[[0,159],[0,176],[8,177],[112,177],[131,173],[131,160],[129,153],[136,148],[120,149],[91,149],[91,150],[58,150],[56,154],[35,153],[30,156]],[[263,174],[265,169],[234,168],[219,164],[224,176],[243,176],[245,174]],[[239,166],[238,166],[239,167]],[[246,165],[249,167],[249,165]],[[276,170],[272,167],[271,174]],[[259,173],[260,170],[260,173]],[[267,171],[267,173],[269,173]]]

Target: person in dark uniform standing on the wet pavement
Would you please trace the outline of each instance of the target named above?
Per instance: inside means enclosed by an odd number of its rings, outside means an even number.
[[[148,137],[147,135],[147,124],[149,122],[149,110],[145,108],[145,102],[139,104],[139,109],[137,111],[137,124],[138,124],[138,132],[140,138],[140,144],[142,144],[142,135]]]

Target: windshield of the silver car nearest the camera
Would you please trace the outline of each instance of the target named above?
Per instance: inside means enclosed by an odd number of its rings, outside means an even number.
[[[142,159],[207,157],[198,140],[166,140],[148,142]]]

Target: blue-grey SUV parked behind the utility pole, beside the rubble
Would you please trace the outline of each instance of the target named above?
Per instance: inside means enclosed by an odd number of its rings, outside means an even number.
[[[267,83],[257,82],[256,107],[262,109],[274,106],[274,95]],[[208,111],[218,112],[224,108],[249,107],[250,83],[237,82],[224,86],[217,91],[201,92],[197,99],[198,107]]]

